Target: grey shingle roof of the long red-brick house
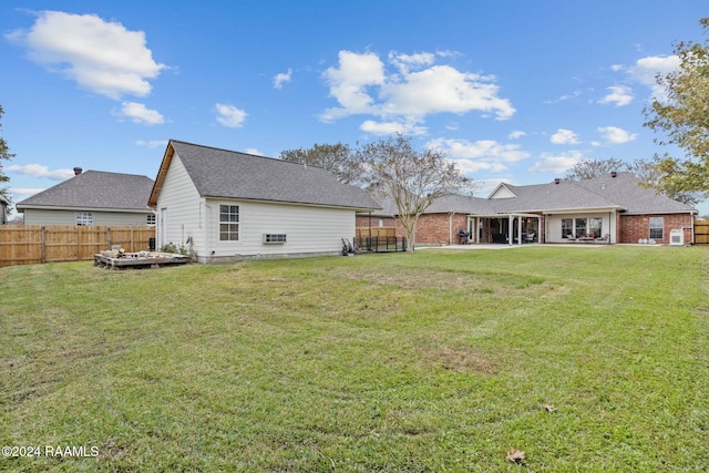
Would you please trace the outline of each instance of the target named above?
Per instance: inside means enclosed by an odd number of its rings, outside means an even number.
[[[380,215],[397,215],[392,202]],[[500,184],[489,198],[446,195],[433,202],[425,214],[454,212],[471,215],[561,213],[614,209],[624,214],[697,213],[689,205],[644,187],[631,173],[615,173],[587,181],[558,181],[514,186]]]

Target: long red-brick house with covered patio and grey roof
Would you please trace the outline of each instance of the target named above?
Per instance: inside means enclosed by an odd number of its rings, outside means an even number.
[[[372,220],[399,227],[395,207],[382,207],[358,216],[358,227]],[[631,173],[526,186],[501,183],[487,198],[448,195],[434,200],[419,219],[415,243],[669,244],[672,230],[691,243],[696,215],[695,208],[641,186]]]

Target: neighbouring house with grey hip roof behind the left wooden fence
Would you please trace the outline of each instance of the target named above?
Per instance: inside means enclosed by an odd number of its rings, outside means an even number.
[[[25,225],[154,225],[147,206],[153,179],[134,174],[82,172],[17,203]]]

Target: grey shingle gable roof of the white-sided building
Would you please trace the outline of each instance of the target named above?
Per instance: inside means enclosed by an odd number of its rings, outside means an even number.
[[[157,204],[157,196],[175,154],[202,197],[321,205],[358,210],[380,208],[362,188],[340,183],[322,167],[175,140],[167,144],[151,194],[151,206]]]

